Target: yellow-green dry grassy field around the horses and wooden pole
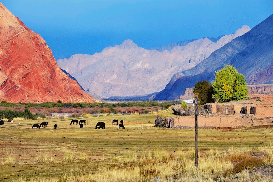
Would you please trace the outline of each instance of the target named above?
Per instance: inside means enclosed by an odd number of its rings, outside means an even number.
[[[200,167],[194,169],[194,129],[154,128],[157,115],[173,116],[166,110],[87,118],[84,128],[70,125],[70,121],[50,123],[58,119],[21,121],[21,125],[48,121],[45,129],[31,129],[31,125],[0,128],[0,181],[273,179],[272,173],[253,172],[253,167],[273,164],[272,128],[228,132],[200,129]],[[113,119],[123,120],[125,130],[112,125]],[[97,122],[105,122],[106,129],[96,130]],[[54,124],[58,125],[57,130]],[[240,159],[248,165],[238,167]]]

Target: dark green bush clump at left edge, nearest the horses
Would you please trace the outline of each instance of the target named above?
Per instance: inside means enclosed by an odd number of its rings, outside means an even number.
[[[23,111],[15,111],[15,110],[0,110],[0,119],[7,118],[8,121],[12,121],[15,117],[22,117],[29,120],[37,120],[37,118],[25,108]]]

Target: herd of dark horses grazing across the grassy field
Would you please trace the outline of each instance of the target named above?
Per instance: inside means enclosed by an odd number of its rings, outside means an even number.
[[[79,122],[78,122],[78,120],[72,120],[70,122],[70,125],[72,125],[72,123],[73,123],[73,125],[75,125],[74,123],[76,123],[76,125],[79,125],[80,128],[83,128],[83,123],[86,124],[86,120],[79,120]],[[115,123],[118,125],[119,129],[120,128],[125,129],[125,127],[123,125],[123,120],[120,120],[120,124],[119,124],[118,120],[113,120],[112,124],[115,124]],[[3,124],[4,124],[4,121],[1,120],[0,125],[3,126]],[[42,122],[40,125],[39,124],[33,124],[31,128],[41,128],[41,126],[42,126],[42,128],[45,128],[46,126],[48,126],[48,122]],[[96,124],[95,128],[96,129],[100,129],[100,128],[105,129],[105,123],[104,122],[98,122]],[[54,129],[55,130],[57,129],[57,124],[54,125]]]

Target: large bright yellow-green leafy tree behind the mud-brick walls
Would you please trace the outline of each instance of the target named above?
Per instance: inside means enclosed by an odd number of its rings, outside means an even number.
[[[248,98],[248,85],[245,82],[244,75],[240,74],[235,67],[225,65],[224,68],[215,73],[215,81],[212,83],[213,99],[219,99],[219,103],[224,103]]]

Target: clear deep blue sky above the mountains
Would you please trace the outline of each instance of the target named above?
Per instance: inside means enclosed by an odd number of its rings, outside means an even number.
[[[273,2],[252,0],[1,0],[39,33],[56,59],[93,54],[132,39],[143,48],[253,28]]]

